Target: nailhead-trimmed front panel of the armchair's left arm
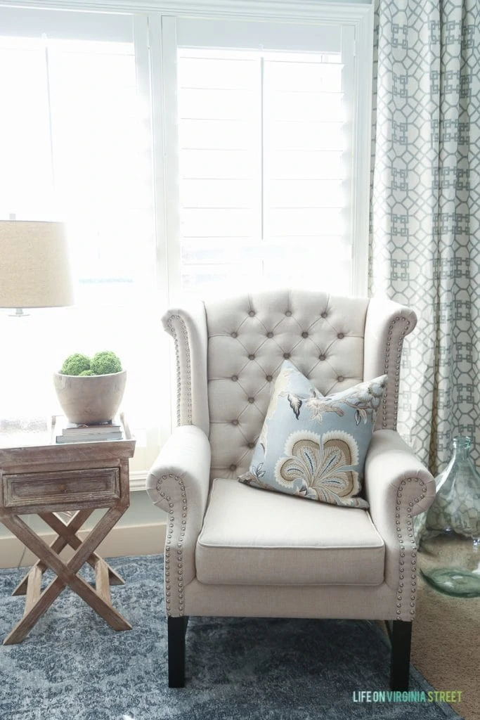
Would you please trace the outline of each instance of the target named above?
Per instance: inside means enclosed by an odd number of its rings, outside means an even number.
[[[173,480],[178,484],[181,497],[173,501],[171,495],[163,491],[163,481],[168,480],[171,483]],[[162,475],[157,481],[157,490],[160,493],[160,497],[163,498],[162,505],[163,509],[168,513],[168,526],[167,526],[167,538],[165,543],[165,556],[163,559],[165,566],[165,608],[168,616],[172,613],[177,615],[184,615],[184,541],[186,533],[186,516],[187,516],[187,502],[186,502],[186,491],[184,481],[181,477],[169,472],[168,474]],[[181,504],[180,504],[181,503]],[[181,522],[178,523],[178,517],[181,512]],[[175,587],[176,583],[176,587]],[[173,595],[173,596],[172,596]],[[174,607],[175,600],[178,599],[176,607]]]

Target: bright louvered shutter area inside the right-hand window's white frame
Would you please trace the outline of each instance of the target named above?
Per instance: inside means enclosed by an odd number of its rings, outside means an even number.
[[[178,50],[184,292],[350,291],[345,106],[340,53]]]

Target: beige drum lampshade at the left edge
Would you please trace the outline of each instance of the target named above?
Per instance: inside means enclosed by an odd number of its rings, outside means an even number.
[[[0,307],[73,304],[65,226],[62,222],[0,220]]]

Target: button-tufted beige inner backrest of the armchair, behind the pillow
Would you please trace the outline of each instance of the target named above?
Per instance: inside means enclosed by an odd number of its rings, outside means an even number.
[[[367,307],[368,300],[302,291],[207,306],[212,479],[248,470],[284,359],[323,395],[361,382]]]

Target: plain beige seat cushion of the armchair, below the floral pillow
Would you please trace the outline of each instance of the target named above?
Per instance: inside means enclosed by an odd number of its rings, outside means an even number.
[[[196,577],[212,585],[381,585],[384,541],[366,510],[217,479]]]

